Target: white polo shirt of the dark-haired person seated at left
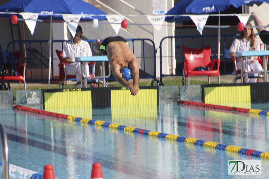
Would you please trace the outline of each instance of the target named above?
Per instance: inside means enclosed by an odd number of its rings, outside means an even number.
[[[75,61],[75,57],[91,57],[93,56],[91,48],[88,42],[80,40],[79,44],[76,45],[73,40],[68,41],[63,46],[63,58],[71,59]],[[71,63],[67,65],[75,65],[77,63]]]

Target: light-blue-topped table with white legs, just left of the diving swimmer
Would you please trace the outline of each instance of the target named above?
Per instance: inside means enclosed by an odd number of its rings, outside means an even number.
[[[110,74],[111,74],[110,65],[109,65],[108,66],[108,75],[105,76],[105,61],[108,61],[107,56],[75,57],[75,61],[81,63],[80,85],[82,86],[82,76],[83,76],[84,77],[84,87],[85,88],[87,87],[87,79],[93,78],[93,77],[87,76],[86,62],[101,61],[102,62],[102,76],[94,76],[94,78],[102,78],[103,79],[103,87],[105,87],[105,78],[108,78],[110,76]]]

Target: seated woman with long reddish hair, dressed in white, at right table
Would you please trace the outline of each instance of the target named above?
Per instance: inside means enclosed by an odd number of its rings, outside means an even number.
[[[256,35],[253,32],[253,28],[247,26],[252,26],[250,23],[247,23],[244,30],[241,32],[240,37],[235,39],[229,50],[229,56],[235,57],[236,51],[250,51],[250,50],[260,50],[260,44]],[[258,56],[249,57],[247,60],[247,71],[262,71],[263,68],[257,60]],[[236,68],[241,70],[241,57],[236,58]],[[250,70],[251,69],[251,70]],[[250,83],[255,83],[257,78],[249,79]]]

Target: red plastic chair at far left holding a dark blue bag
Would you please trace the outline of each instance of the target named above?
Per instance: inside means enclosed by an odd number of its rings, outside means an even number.
[[[20,90],[22,90],[22,81],[24,82],[24,89],[26,90],[26,82],[25,82],[25,68],[26,63],[20,65],[20,57],[22,56],[22,50],[18,50],[16,52],[12,52],[16,55],[18,63],[17,63],[17,76],[4,76],[4,81],[19,81]],[[0,76],[0,80],[2,80],[2,76]]]

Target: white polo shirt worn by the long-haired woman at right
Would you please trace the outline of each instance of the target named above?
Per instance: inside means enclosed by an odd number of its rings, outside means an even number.
[[[254,38],[254,47],[256,51],[260,51],[260,44],[257,38]],[[247,41],[245,38],[242,39],[235,39],[230,47],[230,52],[235,53],[236,51],[250,51],[252,50],[251,48],[251,40]],[[236,58],[236,61],[240,60],[241,57]]]

